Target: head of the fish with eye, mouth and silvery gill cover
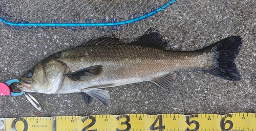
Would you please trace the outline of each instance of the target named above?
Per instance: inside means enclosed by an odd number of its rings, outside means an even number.
[[[17,87],[27,92],[55,93],[61,87],[67,69],[66,64],[58,60],[43,60],[19,78]]]

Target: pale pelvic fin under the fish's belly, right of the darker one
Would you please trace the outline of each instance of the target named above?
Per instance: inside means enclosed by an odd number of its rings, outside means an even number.
[[[111,107],[109,104],[110,95],[107,91],[102,89],[90,89],[90,90],[85,90],[84,93],[98,100],[105,107]]]

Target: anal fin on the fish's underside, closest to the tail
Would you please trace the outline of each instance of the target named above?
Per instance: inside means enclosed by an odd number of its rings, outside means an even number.
[[[153,78],[152,82],[168,92],[175,93],[175,90],[173,87],[174,87],[174,80],[176,79],[176,76],[177,74],[175,72],[170,72],[163,76]]]

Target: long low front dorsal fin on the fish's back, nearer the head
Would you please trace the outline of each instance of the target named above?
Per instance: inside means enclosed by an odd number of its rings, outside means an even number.
[[[80,46],[91,46],[91,45],[117,45],[122,44],[118,38],[112,37],[100,37],[97,39],[91,39],[87,42],[83,42]]]

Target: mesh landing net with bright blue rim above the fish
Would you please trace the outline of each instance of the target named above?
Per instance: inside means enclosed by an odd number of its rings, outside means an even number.
[[[124,0],[3,0],[0,2],[0,17],[14,23],[103,23],[119,22],[138,18],[139,16],[155,11],[170,2],[158,1],[124,1]],[[141,36],[145,30],[156,28],[160,32],[168,30],[169,26],[178,23],[184,15],[192,15],[205,1],[178,0],[169,7],[161,10],[146,19],[130,24],[105,27],[25,27],[12,26],[16,30],[29,29],[58,29],[72,31],[96,30],[102,35],[112,35],[119,38]],[[118,11],[116,11],[118,9]],[[121,11],[120,11],[121,10]],[[2,23],[2,22],[1,22]],[[6,24],[7,25],[7,24]]]

